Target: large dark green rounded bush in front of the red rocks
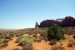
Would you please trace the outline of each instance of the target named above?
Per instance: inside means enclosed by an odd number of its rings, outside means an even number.
[[[60,26],[52,26],[48,29],[48,40],[60,40],[64,39],[65,29]]]

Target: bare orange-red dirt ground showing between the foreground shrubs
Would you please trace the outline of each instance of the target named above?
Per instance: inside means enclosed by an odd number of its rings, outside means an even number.
[[[20,48],[20,50],[22,50],[22,47],[17,46],[15,41],[16,37],[14,37],[13,40],[9,41],[8,46],[6,48],[1,48],[0,50],[11,50],[13,48]],[[67,40],[64,40],[62,43],[66,50],[75,50],[75,47],[67,47]],[[33,47],[35,50],[50,50],[52,46],[48,45],[48,42],[42,40],[41,42],[33,42]]]

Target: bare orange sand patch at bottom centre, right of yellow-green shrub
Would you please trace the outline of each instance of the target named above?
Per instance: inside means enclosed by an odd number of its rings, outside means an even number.
[[[50,45],[46,41],[34,42],[33,47],[34,50],[50,50]]]

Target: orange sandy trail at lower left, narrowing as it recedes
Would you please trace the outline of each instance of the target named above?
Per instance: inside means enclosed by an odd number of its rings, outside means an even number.
[[[20,46],[17,46],[17,43],[15,43],[16,37],[14,37],[11,41],[8,42],[8,46],[5,48],[1,48],[0,50],[11,50],[13,48],[20,48]]]

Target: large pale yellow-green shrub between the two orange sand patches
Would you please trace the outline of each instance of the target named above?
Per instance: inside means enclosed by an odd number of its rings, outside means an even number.
[[[26,50],[26,48],[33,49],[33,47],[32,47],[33,37],[32,36],[30,36],[28,34],[24,34],[23,36],[19,36],[17,38],[17,41],[18,41],[19,45],[23,47],[23,49],[25,49],[25,50]]]

